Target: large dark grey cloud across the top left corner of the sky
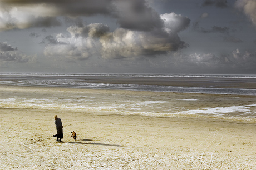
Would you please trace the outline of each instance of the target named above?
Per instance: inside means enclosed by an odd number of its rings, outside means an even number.
[[[6,7],[7,13],[5,12],[3,16],[5,18],[4,21],[7,20],[5,26],[7,26],[7,23],[14,24],[14,26],[6,27],[6,29],[58,26],[60,22],[51,17],[92,16],[95,14],[111,16],[117,20],[116,22],[122,28],[131,30],[151,31],[152,29],[163,27],[164,24],[159,14],[149,7],[146,0],[0,0],[1,2],[8,6]],[[12,10],[14,6],[17,6],[16,12]],[[38,8],[38,10],[35,11],[33,8]],[[24,22],[23,18],[19,18],[20,15],[24,14],[27,17],[26,23],[22,23]],[[33,18],[37,18],[37,20]],[[18,23],[12,23],[12,21],[17,21]],[[23,25],[15,26],[16,24]]]

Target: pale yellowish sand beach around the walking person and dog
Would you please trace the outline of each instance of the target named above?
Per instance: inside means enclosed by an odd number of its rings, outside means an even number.
[[[179,104],[186,110],[255,104],[254,96],[15,86],[1,86],[0,94],[0,169],[256,169],[254,119],[153,117],[104,108],[4,102],[13,97],[45,96],[93,96],[99,103],[104,98],[113,102],[129,97],[178,98],[183,99]],[[56,133],[54,114],[62,119],[63,143],[52,137]],[[70,137],[71,131],[77,133],[76,141]]]

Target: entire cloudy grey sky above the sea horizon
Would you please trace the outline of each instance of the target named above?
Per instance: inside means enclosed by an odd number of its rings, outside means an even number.
[[[256,1],[0,0],[0,73],[256,74]]]

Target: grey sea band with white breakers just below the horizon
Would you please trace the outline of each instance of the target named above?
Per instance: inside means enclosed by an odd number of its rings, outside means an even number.
[[[154,92],[256,95],[256,75],[8,73],[0,74],[0,84]]]

